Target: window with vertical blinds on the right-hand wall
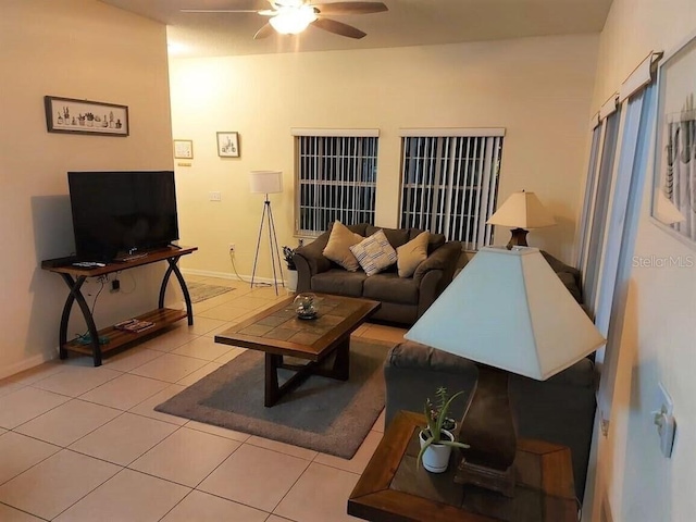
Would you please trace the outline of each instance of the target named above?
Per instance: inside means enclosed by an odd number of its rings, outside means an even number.
[[[633,252],[655,128],[657,62],[650,53],[599,112],[581,221],[585,306],[607,338],[595,362],[601,373],[597,409],[605,435],[611,417]],[[599,138],[599,135],[602,135]]]

